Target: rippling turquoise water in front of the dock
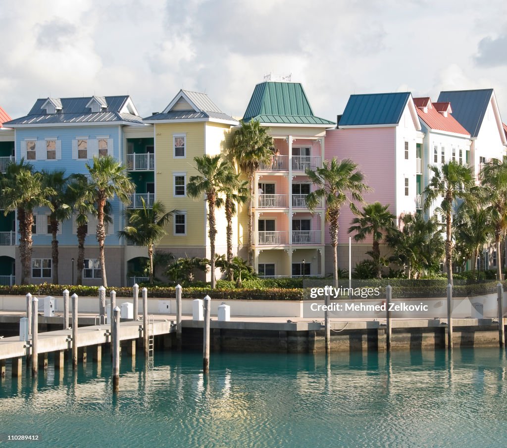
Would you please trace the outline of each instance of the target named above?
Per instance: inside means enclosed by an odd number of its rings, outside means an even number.
[[[496,349],[323,356],[199,353],[110,357],[0,383],[6,446],[507,446],[505,353]]]

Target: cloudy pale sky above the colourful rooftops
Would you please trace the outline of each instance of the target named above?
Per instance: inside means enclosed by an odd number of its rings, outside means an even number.
[[[242,116],[267,73],[334,119],[351,93],[493,87],[507,120],[505,0],[0,0],[0,106],[130,94],[142,116],[180,88]]]

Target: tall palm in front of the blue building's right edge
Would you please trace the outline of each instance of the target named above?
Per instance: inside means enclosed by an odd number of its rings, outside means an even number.
[[[129,194],[133,193],[135,186],[128,177],[125,167],[113,156],[93,156],[93,165],[86,164],[90,179],[87,187],[87,198],[93,202],[97,209],[96,237],[99,248],[100,269],[102,284],[107,288],[104,257],[104,209],[108,200],[115,196],[124,204],[129,202]]]

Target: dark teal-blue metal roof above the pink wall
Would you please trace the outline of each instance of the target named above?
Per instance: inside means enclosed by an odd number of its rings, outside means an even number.
[[[398,124],[410,92],[350,95],[340,126]]]

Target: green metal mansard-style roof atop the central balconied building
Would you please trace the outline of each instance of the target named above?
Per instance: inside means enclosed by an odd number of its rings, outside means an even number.
[[[336,124],[313,115],[303,86],[287,82],[266,81],[255,86],[243,116],[244,121],[252,119],[273,124]]]

